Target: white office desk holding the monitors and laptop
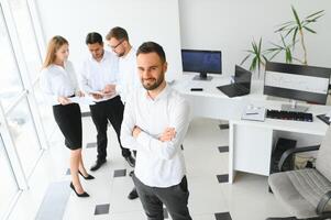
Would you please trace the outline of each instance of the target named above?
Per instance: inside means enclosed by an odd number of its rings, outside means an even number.
[[[274,136],[277,131],[297,132],[320,136],[326,134],[328,125],[316,116],[327,113],[330,106],[306,105],[313,114],[313,122],[266,119],[264,122],[241,120],[247,105],[280,109],[284,101],[268,100],[263,95],[263,81],[253,80],[251,94],[229,98],[217,86],[230,84],[230,77],[214,76],[211,81],[192,80],[192,75],[183,75],[173,87],[189,101],[191,118],[203,117],[228,120],[229,131],[229,183],[233,183],[235,170],[268,176]],[[200,87],[203,91],[190,91]]]

